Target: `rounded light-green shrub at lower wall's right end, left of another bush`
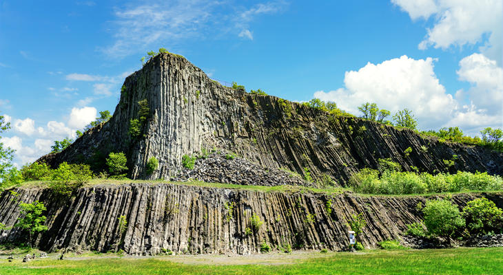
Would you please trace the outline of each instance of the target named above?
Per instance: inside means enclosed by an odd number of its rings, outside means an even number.
[[[430,234],[449,239],[456,230],[464,226],[458,206],[444,199],[428,200],[424,208],[424,225]]]

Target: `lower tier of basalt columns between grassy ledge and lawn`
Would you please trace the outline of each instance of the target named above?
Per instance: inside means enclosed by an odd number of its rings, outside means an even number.
[[[252,253],[263,242],[274,250],[328,248],[349,243],[347,220],[362,212],[367,227],[362,243],[397,239],[407,224],[420,221],[416,209],[424,197],[358,197],[205,188],[179,184],[124,184],[82,188],[68,201],[46,189],[18,189],[0,194],[0,223],[12,226],[19,201],[43,201],[49,230],[37,238],[41,250],[123,249],[128,254]],[[482,195],[454,195],[464,206]],[[489,196],[488,196],[489,197]],[[502,195],[491,194],[491,197]],[[489,198],[491,198],[489,197]],[[329,202],[329,203],[328,203]],[[498,207],[502,207],[498,205]],[[254,228],[252,217],[262,222]],[[249,228],[249,229],[247,229]],[[0,243],[21,238],[17,228]]]

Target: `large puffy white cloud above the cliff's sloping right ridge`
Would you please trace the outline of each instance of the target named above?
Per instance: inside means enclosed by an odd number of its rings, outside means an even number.
[[[434,61],[401,56],[376,65],[367,63],[358,71],[346,72],[345,88],[317,91],[314,96],[335,101],[352,113],[358,113],[356,107],[365,102],[376,102],[392,113],[408,108],[420,118],[420,126],[432,127],[456,107],[433,72]]]

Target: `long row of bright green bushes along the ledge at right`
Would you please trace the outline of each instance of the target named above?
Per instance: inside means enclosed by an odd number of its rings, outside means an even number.
[[[487,173],[458,171],[453,175],[440,173],[398,172],[365,168],[349,180],[355,192],[365,194],[425,194],[429,192],[460,192],[462,190],[502,190],[503,179]]]

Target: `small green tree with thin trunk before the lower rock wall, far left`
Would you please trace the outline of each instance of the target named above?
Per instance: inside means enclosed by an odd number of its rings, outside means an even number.
[[[43,225],[45,223],[45,216],[42,216],[42,212],[46,210],[43,203],[39,201],[33,201],[32,203],[21,203],[22,218],[17,219],[15,226],[28,230],[30,233],[30,248],[32,248],[32,235],[38,232],[43,232],[48,230],[48,227]]]

